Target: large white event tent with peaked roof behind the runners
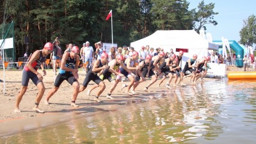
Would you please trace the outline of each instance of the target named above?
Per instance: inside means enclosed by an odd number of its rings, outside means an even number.
[[[173,49],[175,54],[183,50],[182,68],[188,58],[192,58],[193,54],[202,58],[208,55],[208,50],[219,49],[219,45],[208,42],[194,30],[156,31],[150,36],[131,43],[131,47],[134,47],[136,51],[140,51],[141,46],[146,45],[154,47],[154,49],[161,47],[164,52],[170,52],[170,49]]]

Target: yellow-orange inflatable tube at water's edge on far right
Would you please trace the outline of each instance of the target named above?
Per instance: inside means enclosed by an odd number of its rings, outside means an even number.
[[[228,79],[256,79],[256,72],[228,72]]]

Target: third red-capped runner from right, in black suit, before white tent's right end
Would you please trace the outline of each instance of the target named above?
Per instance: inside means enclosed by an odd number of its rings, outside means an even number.
[[[197,59],[197,55],[193,54],[193,58],[189,58],[186,61],[186,64],[182,70],[182,75],[184,78],[186,78],[187,71],[191,72],[191,74],[192,74],[191,76],[196,76],[195,69],[194,69],[196,67],[196,65],[193,65],[196,62],[196,59]]]

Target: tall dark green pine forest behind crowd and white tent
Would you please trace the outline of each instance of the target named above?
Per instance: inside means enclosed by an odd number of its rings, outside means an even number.
[[[29,53],[42,49],[57,36],[61,47],[72,43],[79,47],[86,41],[129,45],[157,30],[200,29],[205,24],[217,24],[213,19],[214,4],[202,1],[188,10],[186,0],[3,0],[0,1],[0,23],[15,22],[17,57],[24,54],[24,36],[29,37]],[[196,22],[201,22],[200,27]]]

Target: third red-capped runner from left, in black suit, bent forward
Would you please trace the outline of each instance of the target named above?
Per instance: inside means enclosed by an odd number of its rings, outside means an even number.
[[[102,79],[100,79],[100,77],[97,74],[100,71],[102,71],[106,68],[109,68],[109,66],[107,64],[108,64],[108,54],[106,52],[103,52],[100,55],[100,59],[96,60],[93,64],[93,67],[90,68],[90,70],[87,72],[86,77],[84,78],[83,84],[79,88],[79,93],[83,92],[86,89],[86,87],[88,86],[90,81],[93,81],[94,83],[98,84],[100,87],[100,90],[97,92],[94,100],[97,102],[100,102],[99,96],[105,90],[106,85],[104,84]]]

